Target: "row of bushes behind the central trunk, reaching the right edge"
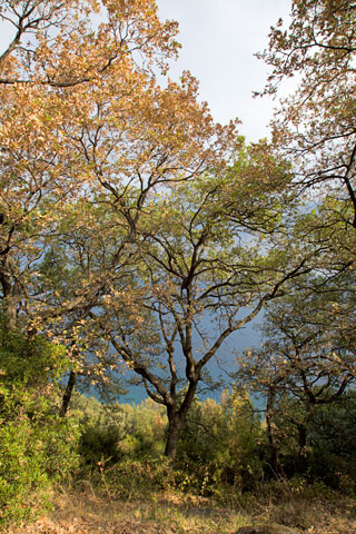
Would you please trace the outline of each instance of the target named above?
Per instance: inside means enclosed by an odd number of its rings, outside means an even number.
[[[164,408],[152,400],[109,407],[77,394],[72,414],[81,422],[82,467],[96,471],[98,465],[105,466],[115,482],[123,464],[137,467],[137,462],[151,466],[164,462],[167,421]],[[234,492],[254,492],[276,477],[354,492],[355,419],[355,392],[314,411],[306,411],[290,397],[281,398],[270,422],[278,449],[276,472],[264,411],[254,407],[246,394],[233,390],[222,393],[219,400],[196,400],[179,442],[170,483],[222,500]],[[151,469],[139,469],[141,482],[145,474],[155,482]],[[157,476],[160,483],[162,473]]]

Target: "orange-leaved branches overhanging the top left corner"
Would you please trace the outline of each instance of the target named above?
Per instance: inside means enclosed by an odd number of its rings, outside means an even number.
[[[122,73],[135,51],[137,70],[165,70],[179,47],[177,22],[160,22],[151,0],[4,0],[0,17],[13,28],[0,56],[4,86],[100,82],[112,70]]]

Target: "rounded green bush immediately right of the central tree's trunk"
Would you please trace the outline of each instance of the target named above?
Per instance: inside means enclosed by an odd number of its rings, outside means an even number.
[[[196,403],[178,446],[177,459],[187,473],[182,486],[216,495],[233,486],[251,490],[261,478],[263,431],[248,397],[224,393],[220,403]]]

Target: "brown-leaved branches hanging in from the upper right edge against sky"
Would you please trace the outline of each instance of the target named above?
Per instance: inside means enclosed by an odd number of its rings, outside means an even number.
[[[284,79],[297,89],[273,121],[279,150],[291,158],[294,187],[318,205],[309,221],[329,239],[337,260],[355,261],[355,55],[356,4],[349,0],[294,0],[291,21],[271,28],[259,53],[273,67],[264,93],[278,93]],[[320,230],[322,229],[322,230]],[[315,237],[315,236],[314,236]]]

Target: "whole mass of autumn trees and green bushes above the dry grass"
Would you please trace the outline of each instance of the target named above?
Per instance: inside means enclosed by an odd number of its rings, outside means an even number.
[[[343,495],[352,517],[355,3],[291,1],[259,57],[264,93],[298,87],[250,145],[189,72],[158,83],[179,44],[155,0],[3,0],[0,21],[2,527],[83,486],[310,532],[312,503]]]

